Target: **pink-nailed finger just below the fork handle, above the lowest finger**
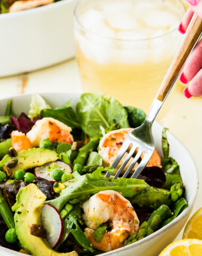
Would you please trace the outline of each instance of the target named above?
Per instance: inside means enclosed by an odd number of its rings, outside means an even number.
[[[180,76],[180,81],[186,84],[196,76],[198,71],[202,68],[202,40],[198,42],[195,49],[189,55],[185,62],[183,73]]]

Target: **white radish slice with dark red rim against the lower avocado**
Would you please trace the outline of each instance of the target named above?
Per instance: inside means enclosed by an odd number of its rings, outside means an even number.
[[[41,209],[41,223],[47,230],[48,244],[52,248],[56,247],[60,243],[64,230],[60,213],[52,205],[44,204]]]

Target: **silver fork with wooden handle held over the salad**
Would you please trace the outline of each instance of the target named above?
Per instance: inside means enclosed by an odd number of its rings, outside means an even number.
[[[188,55],[197,44],[202,34],[201,32],[202,32],[202,20],[199,17],[197,17],[197,15],[195,14],[193,15],[193,18],[186,31],[186,34],[184,35],[184,38],[178,49],[178,52],[176,53],[171,63],[171,66],[164,77],[162,85],[158,90],[158,93],[153,101],[153,104],[149,109],[145,122],[141,126],[137,127],[136,129],[133,129],[128,133],[127,137],[123,142],[123,145],[121,146],[119,152],[117,153],[111,165],[112,167],[116,168],[117,164],[119,164],[119,162],[121,161],[121,158],[130,147],[130,151],[127,157],[123,161],[119,170],[114,175],[113,179],[116,179],[117,177],[119,177],[124,167],[127,165],[127,163],[129,162],[130,158],[133,156],[136,150],[138,150],[137,154],[136,156],[134,156],[134,159],[132,160],[128,169],[123,174],[124,178],[128,176],[128,174],[132,170],[133,166],[137,163],[142,153],[144,153],[145,155],[142,157],[137,169],[133,172],[131,178],[137,178],[138,175],[141,173],[141,171],[145,168],[145,166],[149,162],[150,157],[152,157],[155,149],[155,143],[152,135],[152,125],[153,125],[154,119],[156,118],[158,111],[161,109],[167,95],[169,94],[173,84],[175,83],[176,78],[178,78]],[[105,177],[109,178],[110,175],[111,175],[110,172],[107,172]]]

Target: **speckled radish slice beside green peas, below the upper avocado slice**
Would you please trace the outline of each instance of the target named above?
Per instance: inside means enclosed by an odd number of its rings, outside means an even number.
[[[72,173],[72,169],[69,166],[69,164],[63,163],[61,161],[55,161],[36,167],[34,174],[36,177],[44,178],[46,180],[51,181],[54,184],[55,180],[53,179],[52,174],[53,171],[56,169],[60,169],[64,173]]]

